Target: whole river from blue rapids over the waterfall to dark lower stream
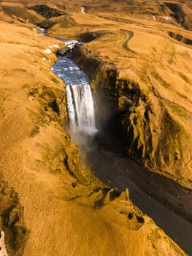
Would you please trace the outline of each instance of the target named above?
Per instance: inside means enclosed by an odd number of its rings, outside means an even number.
[[[77,41],[62,40],[72,49]],[[88,161],[102,181],[122,191],[150,216],[188,255],[192,255],[192,192],[176,182],[151,173],[123,153],[118,131],[96,129],[95,113],[88,76],[66,56],[58,56],[51,68],[66,83],[69,127],[72,140],[86,143],[93,150]],[[115,135],[115,137],[114,137]],[[90,144],[89,144],[90,146]]]

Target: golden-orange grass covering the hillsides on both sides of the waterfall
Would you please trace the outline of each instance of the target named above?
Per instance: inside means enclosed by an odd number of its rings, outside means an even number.
[[[39,1],[0,2],[0,229],[5,230],[8,255],[185,255],[131,203],[127,190],[117,197],[114,189],[102,184],[90,167],[80,162],[77,145],[71,143],[64,130],[65,85],[50,71],[57,48],[53,47],[51,54],[43,52],[49,46],[61,47],[61,42],[39,35],[32,23],[45,18],[28,11],[23,4]],[[55,25],[47,34],[72,39],[86,31],[100,35],[85,48],[93,56],[115,64],[119,80],[139,83],[152,101],[155,118],[151,126],[156,136],[162,136],[158,127],[164,109],[178,124],[175,145],[168,147],[178,151],[178,163],[171,159],[172,152],[169,164],[164,162],[166,138],[162,138],[163,149],[159,149],[158,157],[167,176],[181,178],[186,187],[191,187],[192,47],[167,33],[177,31],[188,39],[192,34],[176,22],[160,18],[158,4],[153,5],[156,20],[151,13],[145,13],[150,2],[146,6],[134,1],[134,6],[139,7],[132,13],[128,11],[131,4],[133,1],[128,1],[126,9],[126,1],[123,7],[120,1],[91,1],[90,7],[85,8],[87,13],[82,14],[80,8],[86,1],[51,1],[50,7],[67,14],[51,18],[49,21]],[[191,24],[190,1],[184,7]],[[130,31],[134,34],[131,38]],[[59,114],[50,107],[55,101]],[[138,122],[143,106],[141,102],[132,113]],[[137,132],[142,134],[142,126],[139,127]],[[152,170],[158,165],[156,138],[151,152]],[[146,166],[150,164],[146,162]],[[12,191],[18,194],[18,201]],[[4,221],[4,213],[8,222]]]

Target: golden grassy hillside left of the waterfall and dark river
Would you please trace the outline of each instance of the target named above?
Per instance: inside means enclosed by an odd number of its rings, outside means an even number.
[[[185,255],[127,190],[105,186],[82,165],[64,129],[65,85],[50,71],[61,42],[2,12],[0,38],[0,178],[8,181],[0,227],[8,254]]]

